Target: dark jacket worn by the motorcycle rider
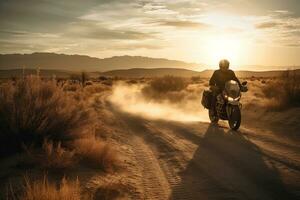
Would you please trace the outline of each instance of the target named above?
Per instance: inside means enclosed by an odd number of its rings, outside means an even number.
[[[220,91],[223,91],[225,88],[225,83],[230,80],[238,82],[239,86],[241,87],[240,81],[232,70],[221,71],[218,69],[214,71],[212,77],[210,78],[209,85],[217,86]]]

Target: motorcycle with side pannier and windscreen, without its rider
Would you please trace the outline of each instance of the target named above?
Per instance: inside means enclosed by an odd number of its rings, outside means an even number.
[[[208,109],[210,121],[212,123],[218,123],[219,119],[228,120],[230,128],[232,130],[238,130],[241,125],[241,92],[247,91],[247,81],[242,83],[241,88],[234,80],[226,82],[224,90],[217,95],[215,108],[211,106],[211,100],[213,98],[212,88],[208,91],[204,91],[202,105]]]

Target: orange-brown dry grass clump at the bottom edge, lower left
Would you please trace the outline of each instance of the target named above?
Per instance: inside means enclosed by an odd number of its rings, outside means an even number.
[[[13,193],[13,191],[11,192]],[[44,176],[41,180],[30,180],[25,177],[23,192],[19,196],[11,194],[8,199],[20,200],[82,200],[92,199],[89,195],[84,195],[79,180],[70,181],[66,178],[61,180],[59,185],[49,182]]]

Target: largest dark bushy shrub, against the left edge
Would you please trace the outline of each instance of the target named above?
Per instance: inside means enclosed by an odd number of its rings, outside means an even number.
[[[0,155],[44,139],[73,139],[91,123],[89,110],[51,81],[27,77],[0,87]]]

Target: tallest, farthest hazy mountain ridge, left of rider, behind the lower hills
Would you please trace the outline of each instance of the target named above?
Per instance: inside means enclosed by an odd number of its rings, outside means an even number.
[[[142,56],[95,58],[83,55],[55,53],[0,54],[0,69],[55,69],[69,71],[108,71],[129,68],[185,68],[199,67],[196,63]]]

